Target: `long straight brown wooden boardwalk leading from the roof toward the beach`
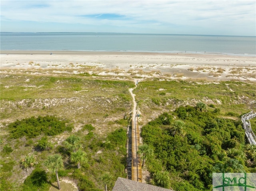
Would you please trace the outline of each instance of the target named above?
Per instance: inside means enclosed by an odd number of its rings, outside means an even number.
[[[140,145],[140,132],[138,126],[138,117],[132,117],[132,180],[142,182],[142,169],[140,157],[137,154]]]

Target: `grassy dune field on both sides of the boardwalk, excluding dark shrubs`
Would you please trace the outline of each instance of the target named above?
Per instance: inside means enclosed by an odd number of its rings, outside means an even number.
[[[60,73],[52,69],[38,73],[6,70],[1,74],[1,179],[10,190],[24,190],[23,181],[34,168],[26,172],[20,167],[20,159],[30,153],[38,160],[37,168],[44,170],[43,161],[47,156],[61,153],[66,164],[62,176],[74,179],[78,185],[91,182],[95,189],[103,190],[99,177],[104,171],[113,175],[110,189],[118,176],[126,177],[126,143],[114,140],[114,137],[123,135],[128,126],[126,117],[132,111],[129,89],[135,87],[134,79],[142,80],[134,90],[140,125],[164,111],[174,110],[180,105],[194,106],[200,101],[209,109],[220,108],[221,116],[234,119],[256,108],[256,83],[252,82],[172,81],[165,77],[143,79],[136,76],[138,73],[131,73],[129,77],[101,76],[93,75],[94,69],[91,70],[90,73],[72,73],[64,69],[59,70]],[[48,136],[49,142],[54,145],[51,150],[35,150],[43,135],[31,139],[9,138],[8,124],[11,122],[46,115],[57,116],[73,127],[72,132]],[[92,124],[95,129],[87,130],[84,128],[86,124]],[[63,144],[70,134],[81,138],[89,159],[79,171],[74,164],[69,164]],[[109,141],[111,145],[107,146]],[[6,145],[13,151],[3,153]],[[86,175],[86,180],[80,179],[82,175]],[[51,177],[48,179],[54,181]]]

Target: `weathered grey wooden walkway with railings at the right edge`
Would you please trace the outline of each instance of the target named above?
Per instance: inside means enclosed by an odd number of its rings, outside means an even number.
[[[246,137],[247,137],[248,141],[250,142],[250,144],[252,144],[252,145],[256,145],[256,136],[255,136],[254,132],[252,131],[252,127],[251,127],[251,123],[250,123],[250,119],[252,119],[254,117],[256,117],[256,113],[254,113],[253,111],[246,113],[241,117]]]

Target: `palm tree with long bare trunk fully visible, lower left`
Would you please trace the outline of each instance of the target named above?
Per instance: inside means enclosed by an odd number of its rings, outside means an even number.
[[[56,173],[58,189],[60,190],[60,180],[58,176],[58,170],[63,168],[63,160],[60,154],[51,155],[48,159],[44,162],[46,167],[52,172]]]

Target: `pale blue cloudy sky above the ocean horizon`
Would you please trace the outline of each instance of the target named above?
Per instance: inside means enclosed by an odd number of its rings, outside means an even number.
[[[255,0],[0,0],[1,32],[256,36]]]

